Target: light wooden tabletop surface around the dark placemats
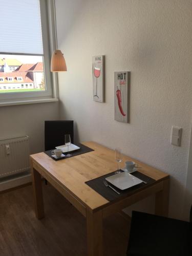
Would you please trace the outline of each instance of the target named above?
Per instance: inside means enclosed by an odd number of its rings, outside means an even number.
[[[94,151],[59,161],[54,161],[44,152],[30,157],[33,166],[41,168],[44,173],[50,175],[63,188],[67,189],[84,206],[94,210],[105,206],[109,201],[84,182],[114,172],[117,169],[117,163],[114,159],[115,153],[110,148],[92,141],[82,144],[93,148]],[[124,166],[125,161],[129,160],[135,161],[142,167],[139,168],[139,172],[157,182],[168,177],[166,173],[124,155],[121,167]]]

